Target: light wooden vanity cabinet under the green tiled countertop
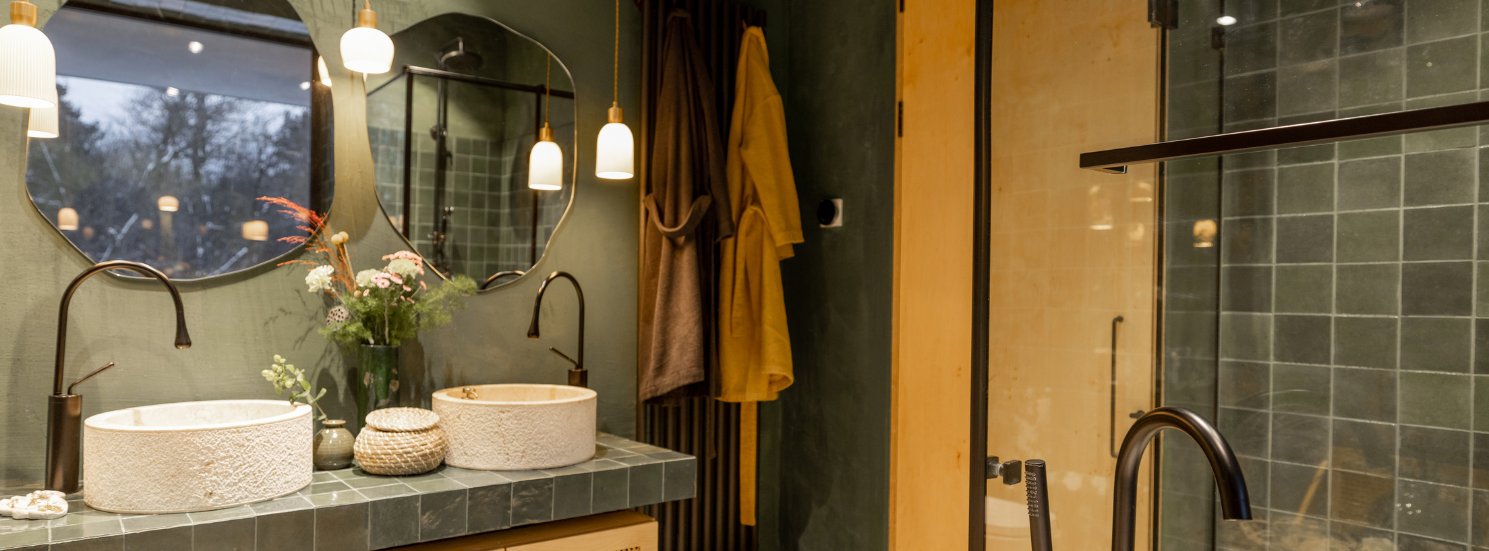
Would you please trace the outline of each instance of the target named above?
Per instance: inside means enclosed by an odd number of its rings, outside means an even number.
[[[657,551],[657,521],[616,511],[398,548],[399,551]]]

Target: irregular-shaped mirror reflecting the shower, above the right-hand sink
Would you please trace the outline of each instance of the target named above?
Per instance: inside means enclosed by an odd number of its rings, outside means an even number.
[[[543,255],[573,191],[569,73],[542,45],[450,13],[393,34],[393,70],[368,77],[368,136],[389,220],[441,274],[491,286]],[[549,88],[551,86],[551,88]],[[529,188],[543,125],[561,188]]]

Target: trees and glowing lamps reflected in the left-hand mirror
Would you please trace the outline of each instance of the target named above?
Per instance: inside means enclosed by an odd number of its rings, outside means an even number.
[[[54,222],[77,210],[79,229],[66,234],[89,258],[205,277],[284,252],[274,237],[293,223],[253,198],[308,200],[308,109],[138,86],[125,113],[100,125],[58,92],[60,140],[33,140],[27,183]],[[165,195],[176,211],[158,208]],[[243,237],[255,219],[270,223],[268,241]]]

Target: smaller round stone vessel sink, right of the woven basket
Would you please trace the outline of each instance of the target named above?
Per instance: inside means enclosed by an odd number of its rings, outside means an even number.
[[[469,390],[469,392],[468,392]],[[472,396],[472,398],[466,398]],[[594,457],[594,390],[557,384],[481,384],[435,393],[450,438],[445,463],[530,471]]]

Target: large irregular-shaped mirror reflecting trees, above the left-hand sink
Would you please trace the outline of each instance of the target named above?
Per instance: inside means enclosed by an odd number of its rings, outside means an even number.
[[[259,197],[326,211],[331,91],[287,0],[71,0],[57,48],[55,138],[33,133],[27,189],[89,259],[204,278],[301,235]]]

